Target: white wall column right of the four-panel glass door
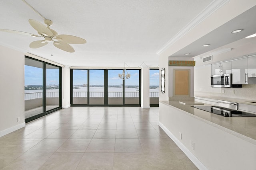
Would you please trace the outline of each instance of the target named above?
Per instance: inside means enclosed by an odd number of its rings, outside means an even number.
[[[149,67],[142,66],[141,69],[141,107],[149,109]]]

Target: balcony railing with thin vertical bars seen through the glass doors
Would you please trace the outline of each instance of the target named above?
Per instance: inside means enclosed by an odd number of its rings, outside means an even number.
[[[73,92],[73,98],[87,98],[87,92]],[[25,100],[42,98],[42,92],[25,93]],[[124,92],[125,98],[138,98],[139,92]],[[46,98],[58,98],[59,92],[46,92]],[[123,92],[108,92],[109,98],[122,98]],[[150,98],[158,98],[159,92],[149,92]],[[90,98],[104,98],[104,92],[90,92]]]

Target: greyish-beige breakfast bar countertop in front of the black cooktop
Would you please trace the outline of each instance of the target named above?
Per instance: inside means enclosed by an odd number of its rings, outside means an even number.
[[[175,107],[196,119],[200,119],[216,128],[256,145],[256,117],[224,117],[191,107],[193,104],[184,105],[180,104],[178,101],[160,101],[160,103]],[[204,105],[211,106],[208,104]]]

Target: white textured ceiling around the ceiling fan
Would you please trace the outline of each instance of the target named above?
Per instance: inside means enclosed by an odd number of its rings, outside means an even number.
[[[213,0],[27,0],[58,34],[86,39],[74,53],[51,44],[30,49],[30,37],[0,32],[0,44],[69,66],[158,66],[161,49]],[[28,23],[44,20],[22,0],[0,1],[0,28],[37,34]],[[53,56],[51,56],[51,53]]]

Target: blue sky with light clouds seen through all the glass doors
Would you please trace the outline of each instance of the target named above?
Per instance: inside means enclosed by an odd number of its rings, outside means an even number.
[[[139,85],[139,70],[127,70],[131,77],[125,80],[126,86]],[[90,84],[91,85],[104,85],[104,70],[90,70]],[[108,70],[108,84],[120,85],[122,79],[118,77],[122,74],[122,70]],[[127,73],[126,73],[127,74]],[[87,70],[73,70],[73,84],[83,85],[87,82]],[[42,85],[43,76],[42,68],[25,65],[25,85]],[[59,70],[47,69],[46,70],[46,85],[59,84]],[[159,70],[150,70],[150,85],[159,86]]]

